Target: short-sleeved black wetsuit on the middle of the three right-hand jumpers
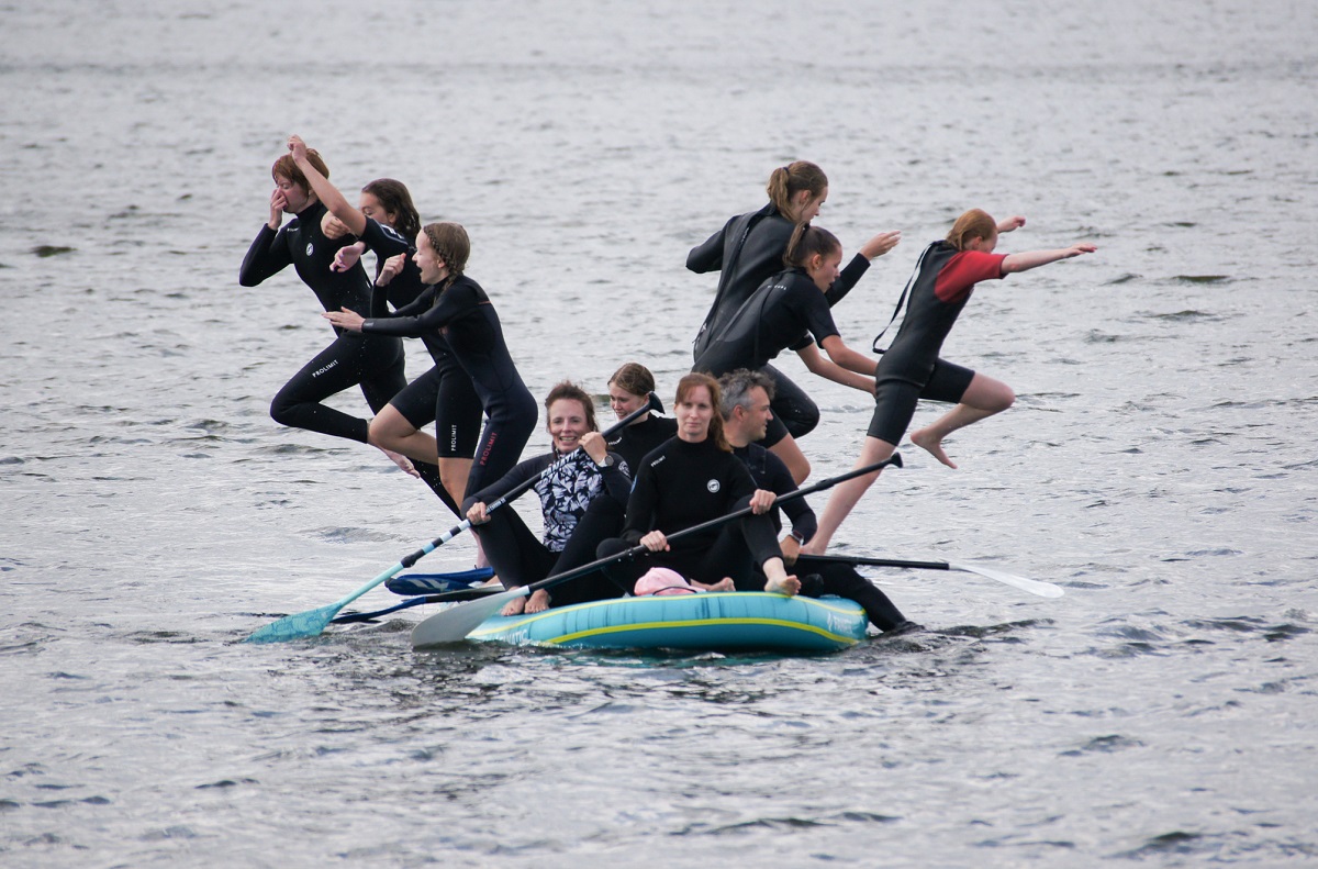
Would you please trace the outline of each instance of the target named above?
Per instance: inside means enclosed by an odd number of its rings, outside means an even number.
[[[861,257],[865,258],[865,257]],[[774,380],[774,404],[778,400],[776,372],[768,360],[783,349],[801,349],[813,336],[818,344],[837,335],[828,299],[815,281],[801,269],[787,269],[768,278],[705,344],[693,371],[720,377],[738,368],[759,369]],[[772,447],[789,434],[778,413],[768,421],[764,446]]]

